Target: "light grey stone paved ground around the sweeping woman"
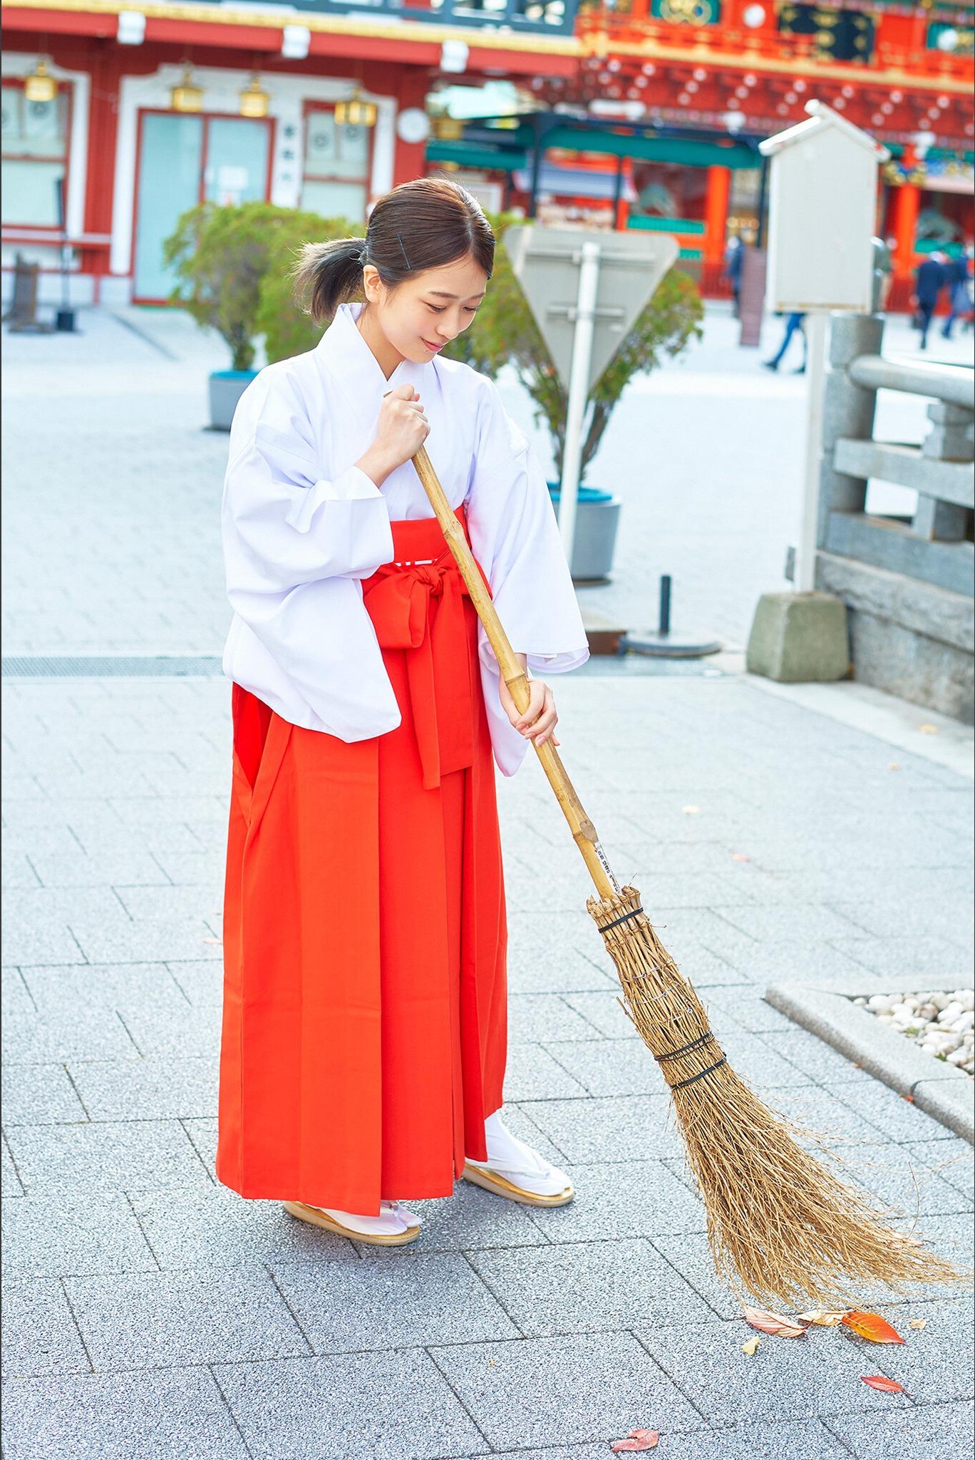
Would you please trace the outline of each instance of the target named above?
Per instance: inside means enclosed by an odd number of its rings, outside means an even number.
[[[104,315],[83,324],[82,340],[12,342],[6,651],[216,653],[226,441],[199,423],[219,356],[171,317],[152,337],[175,358]],[[756,502],[775,501],[768,472],[793,470],[782,434],[801,402],[731,356],[727,326],[712,321],[702,374],[727,377],[736,412],[772,413],[739,457],[753,453]],[[677,399],[658,448],[674,476],[680,425],[701,410]],[[782,518],[756,507],[746,555],[727,549],[718,488],[711,507],[674,562],[740,642]],[[661,510],[674,553],[680,520]],[[629,569],[620,580],[635,591]],[[461,1186],[422,1203],[417,1244],[378,1253],[213,1178],[226,686],[4,689],[7,1460],[594,1460],[635,1426],[663,1432],[667,1460],[972,1453],[963,1296],[857,1295],[908,1333],[901,1349],[819,1330],[740,1353],[747,1330],[711,1273],[660,1077],[616,1004],[534,765],[499,787],[505,1110],[578,1197],[533,1212]],[[788,975],[917,969],[952,987],[971,969],[969,783],[921,753],[931,737],[893,750],[740,675],[584,672],[558,689],[582,800],[736,1067],[971,1260],[971,1148],[762,1000]]]

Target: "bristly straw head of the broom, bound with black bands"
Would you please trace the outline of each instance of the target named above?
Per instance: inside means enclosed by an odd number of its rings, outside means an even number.
[[[766,1302],[842,1305],[851,1283],[966,1283],[969,1276],[889,1226],[734,1073],[690,984],[635,888],[590,898],[623,987],[623,1009],[671,1089],[687,1164],[708,1216],[718,1276]]]

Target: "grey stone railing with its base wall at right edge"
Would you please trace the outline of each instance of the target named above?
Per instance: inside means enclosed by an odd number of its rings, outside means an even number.
[[[972,720],[975,378],[880,355],[879,315],[833,315],[816,587],[847,603],[854,675]],[[876,441],[877,390],[931,399],[921,445]],[[912,518],[868,514],[870,479],[914,489]]]

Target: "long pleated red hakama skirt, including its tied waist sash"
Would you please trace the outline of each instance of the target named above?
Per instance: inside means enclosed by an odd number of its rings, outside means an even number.
[[[362,590],[396,730],[349,745],[232,691],[216,1174],[363,1215],[488,1159],[506,1057],[477,615],[435,518],[393,542]]]

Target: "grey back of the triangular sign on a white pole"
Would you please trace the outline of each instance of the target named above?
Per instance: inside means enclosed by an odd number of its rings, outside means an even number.
[[[588,393],[674,263],[677,241],[667,234],[543,228],[539,223],[515,223],[505,229],[504,245],[515,277],[566,391],[582,244],[587,241],[600,250]]]

